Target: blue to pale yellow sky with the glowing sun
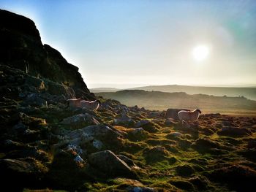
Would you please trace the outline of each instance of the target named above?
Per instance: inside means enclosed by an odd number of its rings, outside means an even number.
[[[0,8],[34,20],[42,43],[78,66],[89,88],[256,85],[254,0],[0,0]]]

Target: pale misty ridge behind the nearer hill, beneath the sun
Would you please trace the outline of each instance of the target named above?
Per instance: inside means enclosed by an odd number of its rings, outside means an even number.
[[[256,88],[233,88],[233,87],[206,87],[187,85],[151,85],[146,87],[129,88],[129,90],[162,91],[162,92],[185,92],[188,94],[207,94],[213,96],[244,96],[256,100]]]

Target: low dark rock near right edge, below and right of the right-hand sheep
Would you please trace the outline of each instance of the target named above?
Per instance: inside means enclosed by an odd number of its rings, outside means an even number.
[[[219,135],[225,135],[229,137],[244,137],[251,135],[252,132],[247,128],[238,128],[234,126],[226,126],[222,128],[220,131],[217,131]]]

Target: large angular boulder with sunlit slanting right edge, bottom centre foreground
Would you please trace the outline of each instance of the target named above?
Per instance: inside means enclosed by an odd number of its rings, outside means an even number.
[[[90,154],[88,162],[108,177],[132,176],[131,168],[110,150]]]

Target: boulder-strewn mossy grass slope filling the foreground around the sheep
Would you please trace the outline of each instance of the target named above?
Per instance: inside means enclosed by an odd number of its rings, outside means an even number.
[[[67,108],[70,92],[0,66],[2,188],[67,191],[253,191],[256,118],[150,111],[99,98]],[[6,75],[8,74],[8,75]],[[52,82],[53,83],[53,82]],[[13,183],[15,185],[10,185]],[[6,184],[6,185],[5,185]]]

